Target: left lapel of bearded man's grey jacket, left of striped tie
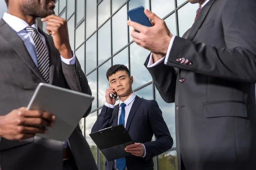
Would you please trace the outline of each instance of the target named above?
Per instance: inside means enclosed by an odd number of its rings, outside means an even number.
[[[3,20],[0,20],[1,31],[0,36],[2,36],[14,49],[17,55],[23,59],[23,61],[28,65],[28,67],[37,75],[43,82],[45,82],[35,63],[33,62],[23,40],[17,35],[17,33]]]

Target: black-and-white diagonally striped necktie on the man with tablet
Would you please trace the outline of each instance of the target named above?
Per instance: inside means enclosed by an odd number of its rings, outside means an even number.
[[[38,34],[38,31],[31,27],[27,26],[26,31],[29,32],[30,37],[35,43],[35,50],[37,53],[37,59],[38,59],[38,70],[44,77],[45,81],[49,82],[49,70],[50,70],[50,63],[49,63],[49,54],[47,51],[47,48],[42,41],[40,35]]]

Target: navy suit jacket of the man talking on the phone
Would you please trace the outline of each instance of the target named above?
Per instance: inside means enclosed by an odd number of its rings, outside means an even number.
[[[118,112],[119,105],[114,109],[103,106],[93,125],[92,133],[117,125]],[[125,158],[128,170],[153,170],[153,157],[172,148],[172,137],[155,100],[141,99],[136,96],[125,129],[134,142],[142,143],[146,148],[145,158],[137,156]],[[151,142],[153,134],[157,140]],[[113,170],[113,161],[106,161],[106,170]]]

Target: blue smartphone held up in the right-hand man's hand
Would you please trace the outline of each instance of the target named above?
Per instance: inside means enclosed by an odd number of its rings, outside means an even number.
[[[130,17],[131,21],[134,21],[136,23],[140,23],[143,26],[151,26],[151,23],[148,19],[148,17],[144,13],[144,7],[139,6],[137,8],[133,8],[127,12],[128,16]],[[136,30],[137,31],[137,30]],[[139,32],[139,31],[137,31]]]

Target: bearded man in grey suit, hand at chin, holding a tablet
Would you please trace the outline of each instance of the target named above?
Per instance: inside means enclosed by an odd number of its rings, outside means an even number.
[[[68,141],[43,139],[35,134],[53,126],[55,116],[23,108],[41,82],[91,94],[70,48],[66,20],[54,15],[55,0],[5,1],[8,13],[0,19],[0,169],[96,170],[79,126]],[[36,17],[45,17],[52,37],[38,28]]]

